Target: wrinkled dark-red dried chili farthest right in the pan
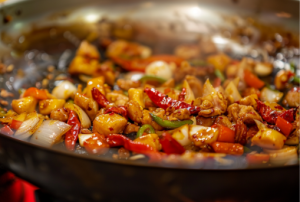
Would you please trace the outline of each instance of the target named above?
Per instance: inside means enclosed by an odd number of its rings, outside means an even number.
[[[261,115],[261,117],[270,124],[275,124],[277,117],[281,117],[288,122],[292,123],[295,120],[296,108],[292,108],[289,110],[285,110],[282,112],[271,109],[271,107],[267,106],[260,100],[256,100],[257,102],[257,111]]]

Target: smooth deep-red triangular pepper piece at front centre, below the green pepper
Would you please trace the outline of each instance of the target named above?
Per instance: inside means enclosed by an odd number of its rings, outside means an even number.
[[[185,149],[169,133],[163,133],[159,140],[163,151],[166,154],[183,154]]]

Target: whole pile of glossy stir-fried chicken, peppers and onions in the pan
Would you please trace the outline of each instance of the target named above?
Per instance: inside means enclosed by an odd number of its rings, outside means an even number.
[[[0,132],[91,155],[118,148],[112,155],[117,159],[143,155],[172,162],[235,155],[249,165],[297,163],[295,69],[281,70],[267,83],[270,63],[216,52],[200,61],[198,52],[197,46],[182,45],[174,55],[152,55],[146,46],[116,40],[101,57],[96,46],[83,41],[68,68],[83,83],[66,78],[51,93],[25,89],[11,110],[2,110]]]

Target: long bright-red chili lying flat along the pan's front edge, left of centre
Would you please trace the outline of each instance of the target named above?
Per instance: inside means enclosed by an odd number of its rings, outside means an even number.
[[[119,147],[123,146],[125,149],[136,152],[147,154],[156,151],[153,147],[149,145],[145,145],[139,142],[134,142],[129,138],[119,135],[119,134],[111,134],[106,137],[106,141],[110,147]]]

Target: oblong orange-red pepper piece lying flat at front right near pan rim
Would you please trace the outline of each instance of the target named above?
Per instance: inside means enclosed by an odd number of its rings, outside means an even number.
[[[244,153],[244,147],[239,143],[214,142],[211,146],[216,153],[232,155],[242,155]]]

